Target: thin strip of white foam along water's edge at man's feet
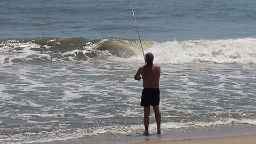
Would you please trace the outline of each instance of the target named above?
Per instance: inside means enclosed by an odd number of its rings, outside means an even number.
[[[161,127],[162,130],[169,130],[169,129],[181,129],[185,127],[205,127],[205,126],[217,126],[217,125],[230,125],[230,124],[255,124],[255,120],[251,119],[226,119],[225,121],[215,121],[215,122],[188,122],[188,123],[175,123],[175,122],[167,122],[167,123],[162,123]],[[62,130],[57,130],[58,131],[58,139],[70,139],[70,138],[82,138],[85,136],[99,136],[99,135],[106,135],[106,134],[131,134],[131,133],[143,133],[144,131],[144,126],[142,124],[139,125],[130,125],[130,126],[125,126],[125,125],[112,125],[112,126],[103,126],[103,127],[91,127],[89,129],[76,129],[73,130],[71,133],[63,133]],[[150,124],[149,126],[149,131],[150,133],[154,133],[156,131],[156,124]],[[62,135],[65,134],[65,135]],[[49,135],[55,135],[56,138],[56,131],[52,133],[48,133]],[[72,137],[70,137],[73,135]]]

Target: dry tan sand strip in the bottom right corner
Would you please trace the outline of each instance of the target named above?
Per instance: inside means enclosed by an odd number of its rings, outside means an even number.
[[[220,138],[202,138],[202,139],[186,139],[186,140],[153,140],[145,142],[136,142],[133,144],[254,144],[256,143],[256,135],[241,135],[234,137],[220,137]]]

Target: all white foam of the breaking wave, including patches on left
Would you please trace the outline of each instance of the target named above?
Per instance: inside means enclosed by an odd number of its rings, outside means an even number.
[[[38,52],[33,49],[46,49],[35,43],[9,43],[2,47],[0,63],[5,61],[33,61],[35,59],[51,60],[55,62],[81,61],[76,56],[82,53],[86,60],[93,60],[86,53],[86,50],[72,50],[63,53]],[[109,50],[106,50],[106,52]],[[122,50],[120,50],[121,52]],[[215,40],[197,40],[197,41],[168,41],[163,43],[155,42],[146,52],[153,52],[155,63],[182,64],[190,62],[213,62],[213,63],[256,63],[256,38],[237,38],[237,39],[215,39]],[[50,51],[49,51],[50,52]],[[100,51],[99,51],[100,52]],[[54,54],[55,53],[55,54]],[[104,55],[104,51],[100,52]],[[122,52],[121,52],[122,53]],[[53,55],[61,55],[54,57]],[[107,54],[108,55],[108,54]],[[111,55],[111,54],[110,54]],[[103,56],[101,56],[103,57]],[[130,56],[129,56],[130,57]],[[100,58],[99,58],[100,59]],[[103,58],[106,59],[106,58]],[[130,58],[118,58],[114,56],[107,57],[110,61],[140,62],[143,63],[141,52]],[[18,60],[18,61],[17,61]]]

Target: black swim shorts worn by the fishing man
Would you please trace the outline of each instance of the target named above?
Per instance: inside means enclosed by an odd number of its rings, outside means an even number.
[[[159,89],[144,88],[141,94],[140,106],[150,107],[159,105],[160,102],[160,91]]]

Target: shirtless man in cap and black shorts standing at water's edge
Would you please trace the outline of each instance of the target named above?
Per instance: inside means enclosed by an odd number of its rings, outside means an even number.
[[[159,66],[153,64],[154,55],[152,53],[146,53],[145,58],[146,65],[140,67],[134,76],[135,80],[140,81],[140,79],[143,79],[144,89],[141,94],[140,106],[144,109],[145,135],[148,135],[150,106],[153,106],[157,124],[157,134],[160,134],[161,113],[159,111],[159,78],[161,69]]]

